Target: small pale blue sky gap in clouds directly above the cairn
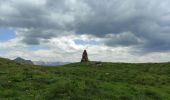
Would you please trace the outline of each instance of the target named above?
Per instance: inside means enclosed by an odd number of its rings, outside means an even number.
[[[74,42],[77,45],[98,45],[98,42],[96,40],[75,39]]]

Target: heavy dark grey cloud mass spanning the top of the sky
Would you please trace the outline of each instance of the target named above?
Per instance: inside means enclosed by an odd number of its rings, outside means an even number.
[[[41,39],[71,31],[102,38],[108,46],[133,46],[144,52],[170,51],[169,0],[35,2],[3,1],[0,27],[27,29],[20,32],[26,44],[39,44]],[[108,38],[110,34],[112,37]]]

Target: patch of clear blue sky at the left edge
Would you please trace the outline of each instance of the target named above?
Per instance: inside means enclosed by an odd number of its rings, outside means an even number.
[[[16,31],[9,28],[0,28],[0,42],[8,41],[16,37]]]

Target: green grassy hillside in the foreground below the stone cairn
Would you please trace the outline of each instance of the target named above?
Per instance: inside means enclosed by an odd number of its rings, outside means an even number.
[[[170,64],[23,65],[0,58],[0,100],[170,100]]]

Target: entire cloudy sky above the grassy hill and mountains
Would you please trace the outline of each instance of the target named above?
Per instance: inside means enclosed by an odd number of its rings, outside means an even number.
[[[170,0],[0,0],[0,56],[170,61]]]

